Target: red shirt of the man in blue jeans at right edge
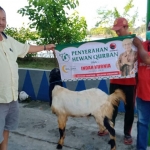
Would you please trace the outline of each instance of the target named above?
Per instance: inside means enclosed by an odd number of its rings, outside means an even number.
[[[143,42],[143,46],[148,51],[147,41]],[[150,65],[143,63],[140,57],[138,57],[137,96],[145,101],[150,101]]]

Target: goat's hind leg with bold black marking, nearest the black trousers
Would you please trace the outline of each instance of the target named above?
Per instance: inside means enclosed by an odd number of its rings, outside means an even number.
[[[110,141],[108,142],[108,144],[111,145],[111,150],[116,150],[115,129],[113,123],[107,117],[104,118],[104,126],[106,127],[110,135]]]

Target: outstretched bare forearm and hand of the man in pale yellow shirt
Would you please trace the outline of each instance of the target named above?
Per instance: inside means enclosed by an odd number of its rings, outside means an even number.
[[[54,51],[55,49],[55,45],[54,44],[48,44],[48,45],[41,45],[41,46],[34,46],[34,45],[30,45],[29,51],[28,53],[36,53],[36,52],[40,52],[42,50],[52,50]]]

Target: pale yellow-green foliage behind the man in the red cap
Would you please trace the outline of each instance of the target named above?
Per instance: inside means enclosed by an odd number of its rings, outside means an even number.
[[[134,14],[131,16],[131,11],[133,11],[134,5],[133,0],[129,0],[128,3],[124,6],[124,12],[121,14],[116,7],[113,10],[108,10],[107,8],[100,8],[98,10],[98,19],[96,23],[96,28],[91,29],[91,34],[104,34],[108,37],[116,36],[114,31],[111,30],[114,20],[118,17],[124,17],[129,22],[129,27],[131,32],[133,32],[133,27],[135,21],[138,17],[138,11],[134,11]]]

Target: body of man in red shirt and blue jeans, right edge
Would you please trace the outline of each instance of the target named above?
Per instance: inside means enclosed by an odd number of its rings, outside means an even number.
[[[138,48],[138,84],[136,91],[137,142],[136,150],[146,150],[150,123],[150,51],[149,41],[142,42],[135,37],[133,44]]]

